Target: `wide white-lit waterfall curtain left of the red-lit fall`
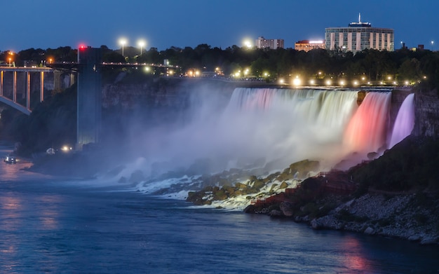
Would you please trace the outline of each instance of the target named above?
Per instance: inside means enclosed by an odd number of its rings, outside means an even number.
[[[236,88],[219,127],[234,129],[225,142],[267,161],[337,161],[357,97],[358,90]]]

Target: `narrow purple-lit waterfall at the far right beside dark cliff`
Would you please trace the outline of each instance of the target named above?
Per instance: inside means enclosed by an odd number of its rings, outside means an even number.
[[[396,116],[395,125],[393,125],[392,135],[389,143],[389,149],[401,142],[405,137],[412,133],[414,127],[414,93],[405,97],[403,104]]]

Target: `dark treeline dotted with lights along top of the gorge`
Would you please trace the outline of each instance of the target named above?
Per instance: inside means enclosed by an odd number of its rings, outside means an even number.
[[[292,48],[267,50],[257,48],[240,48],[231,46],[226,49],[212,48],[200,44],[196,48],[170,47],[158,51],[156,48],[140,50],[133,47],[111,50],[101,46],[104,62],[138,62],[147,64],[163,64],[164,60],[178,66],[176,74],[187,74],[188,71],[203,73],[221,71],[224,76],[264,78],[273,81],[285,78],[330,78],[334,81],[361,80],[374,84],[407,85],[423,83],[432,90],[439,85],[439,53],[431,50],[399,50],[379,51],[363,50],[353,55],[351,52],[337,52],[316,49],[308,53]],[[25,62],[43,65],[45,62],[76,62],[77,50],[60,47],[47,50],[30,48],[19,53],[8,51],[0,53],[0,60],[6,64],[14,62],[22,65]]]

